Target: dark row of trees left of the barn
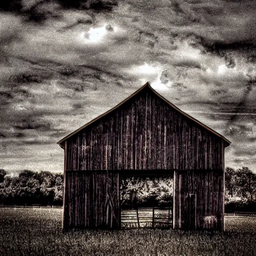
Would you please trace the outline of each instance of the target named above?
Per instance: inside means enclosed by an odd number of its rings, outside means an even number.
[[[63,174],[23,170],[17,176],[0,169],[0,204],[62,205]]]

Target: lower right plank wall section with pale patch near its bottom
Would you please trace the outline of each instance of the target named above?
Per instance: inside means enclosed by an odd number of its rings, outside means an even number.
[[[224,228],[223,171],[174,171],[173,228]]]

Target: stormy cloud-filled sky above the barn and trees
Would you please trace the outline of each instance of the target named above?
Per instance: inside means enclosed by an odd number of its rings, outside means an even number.
[[[60,138],[149,81],[256,171],[256,1],[1,0],[0,168],[63,170]]]

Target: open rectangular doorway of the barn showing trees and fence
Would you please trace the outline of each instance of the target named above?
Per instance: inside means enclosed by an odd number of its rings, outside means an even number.
[[[120,175],[121,228],[172,228],[173,175]]]

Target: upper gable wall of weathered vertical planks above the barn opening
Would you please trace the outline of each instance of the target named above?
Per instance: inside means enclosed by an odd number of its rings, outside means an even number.
[[[221,138],[145,87],[67,139],[67,170],[222,169]]]

